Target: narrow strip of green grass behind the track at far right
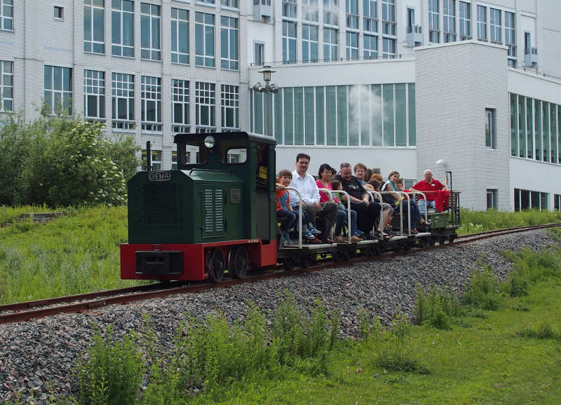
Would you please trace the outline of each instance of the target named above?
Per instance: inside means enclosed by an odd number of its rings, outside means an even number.
[[[461,226],[458,235],[494,231],[496,229],[515,228],[561,222],[561,212],[526,210],[520,212],[502,212],[497,210],[471,211],[461,209]]]

